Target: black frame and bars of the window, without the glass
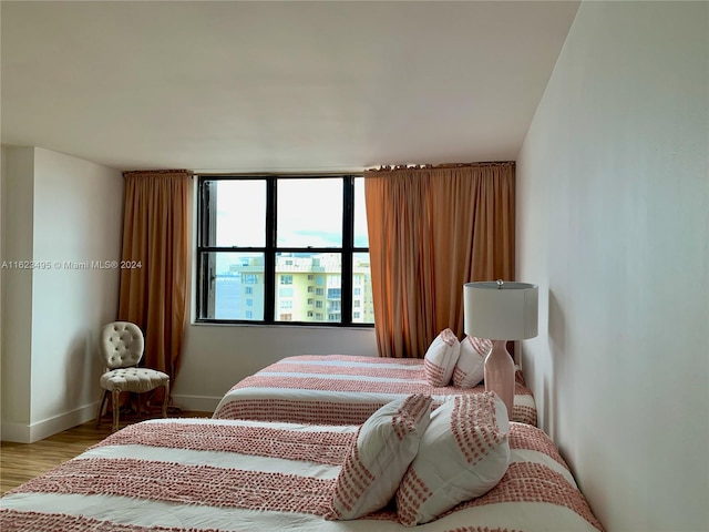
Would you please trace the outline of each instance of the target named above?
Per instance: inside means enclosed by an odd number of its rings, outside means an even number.
[[[198,202],[197,202],[197,264],[196,264],[196,317],[195,321],[201,324],[234,324],[234,325],[268,325],[268,326],[306,326],[306,327],[358,327],[373,328],[374,324],[354,323],[353,318],[353,256],[357,253],[369,253],[369,247],[354,246],[354,180],[363,178],[362,174],[229,174],[210,175],[198,174],[197,176]],[[292,247],[276,245],[277,227],[277,194],[278,181],[288,178],[323,178],[337,177],[342,180],[342,247]],[[215,181],[265,181],[266,182],[266,241],[263,247],[258,246],[212,246],[208,245],[210,234],[210,194],[207,183]],[[209,253],[263,253],[264,254],[264,319],[217,319],[205,317],[205,309],[208,308],[209,285],[214,280],[208,272],[205,257]],[[276,257],[279,253],[340,253],[340,290],[341,311],[340,321],[282,321],[277,320],[279,309],[276,307],[276,294],[280,285],[276,276]],[[212,277],[212,278],[210,278]],[[287,286],[287,285],[285,285]],[[358,309],[361,311],[361,308]]]

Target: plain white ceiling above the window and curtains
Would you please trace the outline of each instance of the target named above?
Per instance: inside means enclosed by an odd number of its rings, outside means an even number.
[[[7,1],[1,140],[120,170],[516,158],[576,1]]]

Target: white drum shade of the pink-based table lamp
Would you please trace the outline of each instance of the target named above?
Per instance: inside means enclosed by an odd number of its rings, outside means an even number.
[[[465,283],[465,334],[491,340],[523,340],[537,334],[538,287],[527,283]]]

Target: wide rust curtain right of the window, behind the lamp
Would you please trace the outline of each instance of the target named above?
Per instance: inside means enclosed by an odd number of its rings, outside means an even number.
[[[422,358],[463,335],[463,284],[514,279],[514,163],[364,172],[381,357]]]

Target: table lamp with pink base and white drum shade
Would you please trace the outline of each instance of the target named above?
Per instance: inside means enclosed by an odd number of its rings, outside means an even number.
[[[492,340],[484,361],[485,391],[494,391],[512,419],[514,360],[508,340],[533,338],[537,332],[538,287],[527,283],[465,283],[464,330],[469,336]]]

